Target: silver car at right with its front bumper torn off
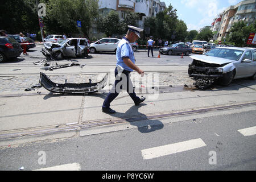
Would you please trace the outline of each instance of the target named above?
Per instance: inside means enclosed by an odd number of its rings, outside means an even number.
[[[208,88],[213,82],[228,86],[234,79],[256,79],[256,48],[220,47],[204,55],[190,56],[188,75],[199,89]]]

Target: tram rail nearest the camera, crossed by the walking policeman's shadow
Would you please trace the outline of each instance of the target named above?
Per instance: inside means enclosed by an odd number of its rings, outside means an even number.
[[[243,104],[224,105],[224,106],[208,107],[208,108],[195,109],[195,110],[143,114],[143,115],[138,115],[136,117],[131,117],[131,118],[98,119],[98,120],[94,120],[94,121],[86,121],[86,123],[82,123],[82,124],[78,124],[78,125],[62,126],[62,127],[57,127],[57,128],[55,127],[55,128],[49,128],[49,129],[37,129],[37,130],[27,129],[30,131],[22,131],[22,132],[15,132],[15,131],[10,132],[9,131],[9,133],[0,134],[0,140],[24,137],[24,136],[55,134],[55,133],[67,132],[67,131],[73,131],[73,130],[79,130],[79,129],[88,129],[88,128],[102,126],[102,125],[113,125],[113,124],[117,124],[117,123],[143,121],[143,120],[147,120],[147,119],[159,119],[159,118],[174,117],[174,116],[179,116],[179,115],[207,113],[209,111],[224,110],[224,109],[231,109],[231,108],[235,108],[235,107],[244,107],[244,106],[253,106],[253,105],[256,105],[256,101],[246,102]],[[22,130],[24,130],[24,129],[22,129]],[[2,131],[2,132],[6,132],[6,131]]]

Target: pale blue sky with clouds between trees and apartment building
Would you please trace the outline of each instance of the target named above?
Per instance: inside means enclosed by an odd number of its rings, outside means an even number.
[[[168,7],[177,9],[178,19],[183,20],[190,30],[199,30],[211,26],[213,19],[227,7],[236,5],[242,0],[160,0]]]

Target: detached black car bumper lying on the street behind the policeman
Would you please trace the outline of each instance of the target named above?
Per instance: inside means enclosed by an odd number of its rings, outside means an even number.
[[[104,78],[100,82],[92,83],[90,80],[89,82],[85,83],[68,83],[65,80],[65,84],[56,84],[52,82],[46,74],[40,72],[40,79],[39,83],[50,92],[55,93],[94,93],[98,92],[103,89],[108,81],[108,73],[104,76]]]

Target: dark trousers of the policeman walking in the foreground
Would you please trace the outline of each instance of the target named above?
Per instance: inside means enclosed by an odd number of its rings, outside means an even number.
[[[117,68],[115,68],[115,83],[112,87],[112,89],[110,90],[108,96],[105,98],[105,101],[102,105],[102,107],[110,107],[110,103],[115,99],[115,97],[118,96],[119,94],[119,89],[122,89],[123,88],[123,84],[126,84],[125,87],[126,87],[126,91],[127,93],[129,93],[129,96],[131,97],[131,99],[135,102],[138,102],[140,100],[139,97],[136,96],[135,92],[134,92],[134,89],[133,89],[133,83],[131,82],[131,78],[129,76],[129,71],[126,71],[126,70],[123,70],[123,75],[122,76],[125,76],[126,77],[126,83],[122,83],[121,84],[118,84],[120,81],[122,81],[122,77],[120,78],[118,76],[118,72],[117,72]],[[119,79],[120,78],[120,79]],[[121,85],[119,88],[117,88],[116,86],[118,85]],[[130,92],[129,92],[130,90]],[[121,91],[121,90],[120,90]]]

